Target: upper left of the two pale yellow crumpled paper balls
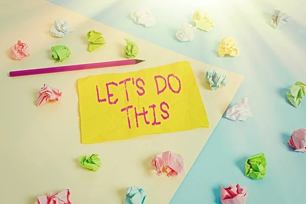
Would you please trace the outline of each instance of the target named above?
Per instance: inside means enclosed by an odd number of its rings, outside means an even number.
[[[195,22],[195,27],[202,31],[210,31],[214,26],[214,21],[211,19],[208,12],[204,12],[198,9],[192,15],[192,19]]]

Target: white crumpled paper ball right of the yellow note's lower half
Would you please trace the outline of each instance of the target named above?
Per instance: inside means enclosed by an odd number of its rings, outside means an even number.
[[[246,118],[253,116],[248,106],[248,98],[241,98],[241,103],[234,105],[226,112],[226,117],[230,120],[244,121]]]

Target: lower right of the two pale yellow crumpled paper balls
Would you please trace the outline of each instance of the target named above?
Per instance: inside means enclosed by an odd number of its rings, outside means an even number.
[[[239,49],[237,49],[236,44],[237,42],[235,38],[225,37],[217,48],[217,53],[220,57],[224,57],[226,54],[233,57],[238,56]]]

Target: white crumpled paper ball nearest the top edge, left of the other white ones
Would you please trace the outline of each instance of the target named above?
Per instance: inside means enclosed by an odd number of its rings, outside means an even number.
[[[149,9],[137,9],[131,14],[137,24],[143,24],[150,27],[156,23],[154,15]]]

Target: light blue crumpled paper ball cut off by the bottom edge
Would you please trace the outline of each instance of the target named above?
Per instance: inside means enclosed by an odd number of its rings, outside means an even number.
[[[129,187],[126,189],[126,198],[123,204],[143,204],[146,197],[145,190],[139,187]]]

